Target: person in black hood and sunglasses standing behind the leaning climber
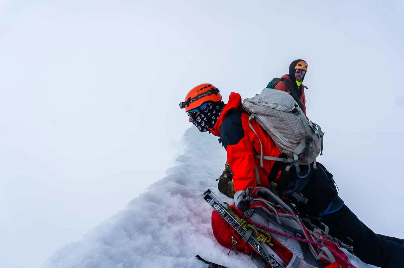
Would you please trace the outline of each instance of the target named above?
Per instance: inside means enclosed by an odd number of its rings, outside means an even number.
[[[306,114],[306,98],[304,89],[307,88],[303,85],[303,79],[307,73],[307,63],[305,60],[294,60],[289,65],[289,73],[280,78],[280,81],[275,85],[274,89],[286,91],[292,94],[293,98],[299,104],[300,108]],[[267,88],[272,88],[269,82]]]

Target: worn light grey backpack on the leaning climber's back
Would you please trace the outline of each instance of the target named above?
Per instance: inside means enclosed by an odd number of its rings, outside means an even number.
[[[299,164],[309,165],[314,162],[316,168],[316,158],[322,155],[324,133],[320,126],[305,116],[289,93],[264,88],[261,94],[243,100],[242,107],[250,114],[248,124],[252,131],[257,134],[250,124],[250,120],[255,120],[286,155],[286,158],[263,156],[260,141],[261,155],[255,157],[261,159],[261,167],[263,160],[290,163],[290,166],[296,167],[297,175],[301,178],[307,176],[309,171],[301,175]]]

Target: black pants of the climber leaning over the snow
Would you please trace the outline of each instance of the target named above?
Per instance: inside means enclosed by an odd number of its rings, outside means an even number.
[[[403,241],[375,234],[360,221],[338,197],[332,175],[322,164],[317,162],[317,170],[312,171],[301,195],[309,201],[297,202],[299,213],[320,218],[329,227],[329,234],[352,245],[353,253],[362,262],[381,268],[404,268]]]

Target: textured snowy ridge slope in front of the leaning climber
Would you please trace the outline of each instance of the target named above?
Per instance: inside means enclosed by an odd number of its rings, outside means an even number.
[[[206,264],[194,258],[199,254],[230,268],[255,268],[248,256],[234,251],[227,256],[229,250],[216,242],[210,226],[212,208],[202,198],[210,188],[231,202],[217,190],[215,181],[224,167],[225,150],[217,137],[194,127],[185,132],[183,143],[176,165],[166,177],[81,241],[57,250],[45,267],[204,268]],[[358,268],[373,267],[352,260]]]

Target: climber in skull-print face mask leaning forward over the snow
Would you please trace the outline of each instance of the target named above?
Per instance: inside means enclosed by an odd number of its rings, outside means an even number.
[[[309,175],[301,181],[294,167],[284,172],[280,161],[264,160],[261,168],[260,159],[254,157],[261,154],[260,144],[265,156],[280,157],[281,152],[255,120],[248,120],[241,104],[241,96],[234,92],[224,104],[219,89],[207,83],[191,89],[179,104],[199,131],[220,137],[234,173],[235,191],[257,186],[271,189],[276,183],[278,193],[295,204],[301,217],[324,222],[330,235],[352,245],[353,253],[363,262],[382,268],[404,268],[403,240],[375,234],[361,222],[338,196],[333,176],[322,164],[317,162],[317,168],[310,168]],[[292,191],[287,191],[289,187]]]

